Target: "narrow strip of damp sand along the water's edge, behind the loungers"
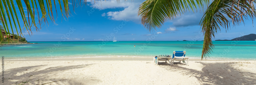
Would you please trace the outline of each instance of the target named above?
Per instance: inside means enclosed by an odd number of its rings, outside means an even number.
[[[86,57],[86,58],[49,58],[49,59],[6,59],[6,61],[153,61],[153,57]],[[255,60],[215,60],[215,59],[189,59],[189,61],[255,61]]]

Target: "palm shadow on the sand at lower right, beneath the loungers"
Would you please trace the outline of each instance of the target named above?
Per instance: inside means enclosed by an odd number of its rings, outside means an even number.
[[[255,68],[250,70],[244,70],[235,68],[233,65],[237,62],[225,62],[225,63],[207,63],[196,62],[202,64],[201,71],[195,69],[189,69],[183,66],[183,63],[175,62],[173,66],[169,66],[167,63],[160,63],[160,67],[167,69],[168,71],[178,72],[184,76],[194,76],[201,84],[217,84],[217,85],[252,85],[256,84]],[[241,62],[240,62],[241,63]],[[241,63],[242,64],[242,63]],[[253,70],[254,69],[254,70]]]

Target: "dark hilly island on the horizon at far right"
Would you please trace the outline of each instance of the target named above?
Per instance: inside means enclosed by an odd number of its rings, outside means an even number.
[[[256,34],[249,34],[239,38],[234,38],[232,40],[215,40],[215,41],[255,41],[255,39],[256,39]]]

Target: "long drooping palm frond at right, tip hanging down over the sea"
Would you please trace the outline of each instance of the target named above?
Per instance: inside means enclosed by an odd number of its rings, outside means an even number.
[[[221,27],[228,30],[230,24],[236,26],[241,22],[244,23],[243,18],[252,20],[255,18],[253,3],[255,1],[251,0],[214,0],[211,3],[200,22],[205,35],[201,59],[206,58],[212,52],[214,45],[211,39]]]

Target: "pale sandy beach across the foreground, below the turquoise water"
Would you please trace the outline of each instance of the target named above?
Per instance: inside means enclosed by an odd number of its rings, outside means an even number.
[[[4,63],[6,85],[256,84],[256,61],[191,59],[189,66],[169,66],[155,65],[152,58],[66,58]]]

